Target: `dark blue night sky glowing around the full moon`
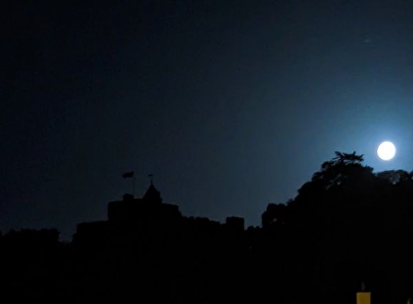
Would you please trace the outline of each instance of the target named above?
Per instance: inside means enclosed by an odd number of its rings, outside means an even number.
[[[413,1],[85,2],[1,5],[3,232],[70,239],[132,170],[250,226],[335,151],[413,169]]]

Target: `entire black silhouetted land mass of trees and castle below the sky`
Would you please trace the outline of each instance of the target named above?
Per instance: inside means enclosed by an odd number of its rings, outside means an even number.
[[[336,153],[261,227],[184,217],[150,184],[107,220],[0,237],[3,296],[25,303],[405,304],[413,294],[413,174]],[[22,290],[24,292],[22,292]],[[362,295],[363,296],[363,295]],[[367,297],[370,298],[370,294]]]

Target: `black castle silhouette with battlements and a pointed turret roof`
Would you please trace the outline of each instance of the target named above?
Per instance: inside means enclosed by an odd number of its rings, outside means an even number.
[[[136,237],[154,237],[160,232],[168,232],[176,237],[188,231],[208,232],[222,230],[225,233],[240,234],[244,232],[242,217],[226,217],[224,224],[203,217],[184,217],[175,204],[162,202],[160,192],[153,182],[142,198],[135,198],[125,193],[120,201],[109,202],[107,220],[85,222],[77,225],[73,242],[77,246],[96,246]]]

